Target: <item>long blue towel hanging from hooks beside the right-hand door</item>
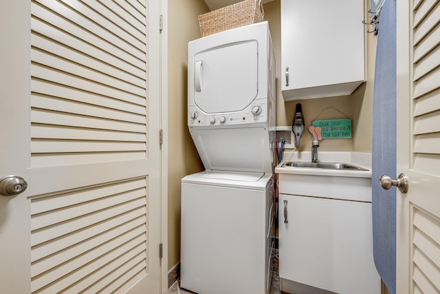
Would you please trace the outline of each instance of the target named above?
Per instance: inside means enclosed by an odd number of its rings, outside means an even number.
[[[382,189],[379,178],[396,175],[396,0],[385,0],[380,13],[373,96],[373,254],[386,288],[395,294],[396,192]]]

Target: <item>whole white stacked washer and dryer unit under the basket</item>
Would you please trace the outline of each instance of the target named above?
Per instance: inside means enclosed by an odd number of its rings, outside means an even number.
[[[205,171],[181,180],[181,287],[270,287],[275,60],[267,21],[188,43],[188,127]]]

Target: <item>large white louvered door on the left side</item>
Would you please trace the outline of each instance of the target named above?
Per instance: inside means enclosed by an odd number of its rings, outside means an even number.
[[[159,2],[0,9],[1,293],[160,293]],[[154,2],[154,3],[153,3]]]

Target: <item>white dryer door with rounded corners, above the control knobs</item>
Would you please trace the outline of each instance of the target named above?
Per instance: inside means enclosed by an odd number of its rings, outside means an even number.
[[[195,54],[194,103],[207,114],[239,112],[258,94],[256,40],[211,48]]]

